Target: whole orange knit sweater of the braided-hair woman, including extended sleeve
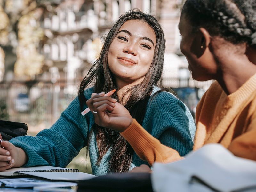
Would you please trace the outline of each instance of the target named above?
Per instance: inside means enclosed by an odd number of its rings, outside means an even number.
[[[212,83],[197,105],[196,123],[194,150],[220,143],[236,156],[256,160],[256,74],[230,95],[217,81]],[[150,136],[136,120],[120,134],[150,165],[182,158],[175,148]]]

